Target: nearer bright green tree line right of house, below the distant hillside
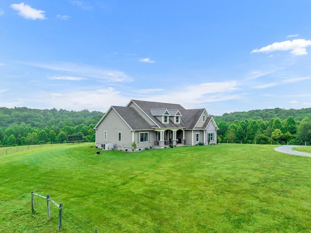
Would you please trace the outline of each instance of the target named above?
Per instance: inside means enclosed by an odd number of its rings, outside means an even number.
[[[311,120],[304,117],[297,121],[294,116],[281,120],[278,117],[269,121],[262,119],[234,120],[216,122],[220,143],[257,143],[257,144],[311,144]]]

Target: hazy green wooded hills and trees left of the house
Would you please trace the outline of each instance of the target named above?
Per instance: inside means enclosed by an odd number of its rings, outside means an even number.
[[[68,135],[77,134],[95,142],[93,128],[103,115],[86,109],[0,108],[0,146],[64,143]]]

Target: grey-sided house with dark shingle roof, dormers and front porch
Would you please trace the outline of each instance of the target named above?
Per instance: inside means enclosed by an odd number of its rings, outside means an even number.
[[[126,107],[111,106],[94,127],[96,146],[137,149],[150,146],[214,144],[217,125],[205,108],[131,100]]]

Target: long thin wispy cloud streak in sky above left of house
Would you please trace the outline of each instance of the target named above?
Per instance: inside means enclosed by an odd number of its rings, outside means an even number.
[[[75,63],[26,63],[27,65],[63,72],[63,77],[85,77],[102,82],[132,82],[133,79],[121,71],[105,70],[102,68]]]

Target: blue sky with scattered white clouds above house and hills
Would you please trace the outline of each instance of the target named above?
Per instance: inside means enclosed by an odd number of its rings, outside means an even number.
[[[311,108],[310,0],[0,2],[0,107]]]

